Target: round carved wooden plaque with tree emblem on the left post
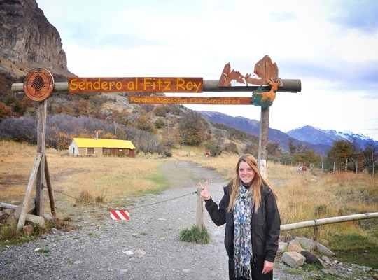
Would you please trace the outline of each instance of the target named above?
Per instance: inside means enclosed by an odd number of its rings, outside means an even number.
[[[31,100],[43,101],[48,99],[52,90],[54,90],[54,77],[46,69],[33,69],[25,77],[24,90]]]

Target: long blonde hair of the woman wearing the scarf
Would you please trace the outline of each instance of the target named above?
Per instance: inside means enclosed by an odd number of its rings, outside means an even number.
[[[255,176],[252,179],[252,184],[251,184],[251,191],[249,192],[251,194],[251,197],[253,198],[253,203],[255,204],[255,211],[257,212],[258,209],[260,208],[261,204],[261,186],[264,184],[268,188],[272,190],[272,193],[274,197],[277,199],[276,192],[274,192],[272,188],[272,183],[270,183],[267,179],[262,177],[260,173],[260,169],[258,169],[258,162],[257,160],[253,157],[253,155],[250,155],[246,153],[245,155],[241,155],[239,158],[239,161],[237,162],[237,166],[235,169],[235,178],[232,179],[231,183],[231,193],[230,193],[230,203],[228,204],[228,211],[234,211],[234,206],[235,206],[235,199],[237,195],[239,195],[239,186],[241,185],[241,179],[239,177],[239,165],[240,162],[246,162],[255,172]]]

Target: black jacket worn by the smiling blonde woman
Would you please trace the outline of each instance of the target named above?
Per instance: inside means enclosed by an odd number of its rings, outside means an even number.
[[[216,225],[225,223],[225,248],[230,258],[234,255],[234,214],[227,207],[230,202],[230,184],[224,188],[221,202],[216,204],[211,198],[205,200],[205,207]],[[281,219],[272,190],[261,187],[261,204],[257,213],[251,209],[251,233],[254,260],[274,262],[278,250]]]

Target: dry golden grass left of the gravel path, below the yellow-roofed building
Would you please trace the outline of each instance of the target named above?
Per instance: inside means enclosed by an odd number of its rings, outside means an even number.
[[[158,172],[158,160],[71,157],[66,151],[50,149],[46,155],[57,207],[81,202],[112,204],[132,195],[157,192],[166,186]],[[35,157],[36,146],[0,141],[0,202],[22,203]],[[47,194],[45,200],[48,200]]]

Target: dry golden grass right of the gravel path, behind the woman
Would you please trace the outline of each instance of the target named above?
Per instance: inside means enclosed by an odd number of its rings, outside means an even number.
[[[179,156],[174,153],[174,157],[216,169],[225,179],[234,176],[238,155],[206,158],[200,149],[185,147],[183,151],[190,151],[197,156]],[[274,182],[274,189],[279,196],[282,224],[378,210],[377,181],[373,181],[369,174],[321,174],[317,169],[298,172],[295,166],[267,162],[267,176]],[[370,229],[378,239],[377,233],[374,233],[377,225],[378,221],[374,220],[322,225],[318,238],[329,239],[335,234],[366,235],[366,229]],[[313,234],[313,228],[283,232],[283,235],[306,237],[312,237]]]

